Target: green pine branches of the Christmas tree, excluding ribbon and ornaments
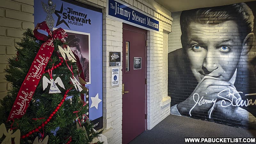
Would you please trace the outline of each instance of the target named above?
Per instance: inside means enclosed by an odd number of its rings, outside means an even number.
[[[31,29],[26,29],[21,38],[21,41],[17,44],[17,57],[8,59],[8,66],[5,69],[5,78],[12,85],[11,90],[9,90],[7,96],[3,100],[0,100],[0,124],[4,123],[6,128],[11,128],[12,122],[6,122],[12,105],[17,97],[20,90],[20,86],[23,83],[28,70],[36,57],[40,46],[44,41],[37,40]],[[60,40],[54,40],[54,51],[52,53],[51,59],[49,60],[46,69],[51,69],[53,64],[56,66],[60,63],[58,53],[58,45],[62,46]],[[76,63],[67,61],[68,65],[73,67],[74,75],[77,75]],[[46,70],[45,69],[45,70]],[[68,69],[65,62],[62,65],[52,71],[53,79],[60,77],[66,90],[72,87],[70,84],[70,77],[72,76],[70,70]],[[50,78],[48,73],[44,73],[43,76]],[[42,77],[43,77],[42,76]],[[63,94],[66,91],[60,88],[62,93],[49,94],[49,88],[43,91],[42,88],[42,78],[36,88],[34,96],[29,103],[29,107],[26,114],[20,119],[15,119],[12,127],[17,127],[13,131],[20,129],[21,135],[25,135],[29,131],[40,126],[54,111],[58,106],[60,101],[63,99]],[[89,120],[82,122],[81,125],[85,126],[86,132],[76,128],[75,120],[78,116],[82,120],[82,115],[88,112],[88,104],[84,105],[84,102],[80,98],[80,93],[86,93],[85,91],[77,92],[74,88],[68,92],[68,96],[72,96],[72,100],[66,99],[60,106],[60,109],[56,112],[48,124],[44,126],[44,136],[49,135],[48,143],[66,143],[69,137],[72,137],[71,143],[91,143],[95,137],[98,137],[102,131],[94,132],[92,130],[92,124]],[[79,111],[73,113],[74,111]],[[33,143],[36,136],[42,137],[40,134],[43,133],[43,129],[39,132],[32,133],[28,138],[21,139],[20,143]],[[85,138],[85,133],[88,134],[88,139]],[[2,141],[4,138],[0,139]],[[99,142],[100,143],[100,142]]]

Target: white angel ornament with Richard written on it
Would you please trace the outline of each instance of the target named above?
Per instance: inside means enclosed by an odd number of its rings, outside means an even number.
[[[49,93],[61,93],[60,89],[58,88],[58,86],[56,84],[59,84],[60,87],[65,89],[64,84],[62,83],[59,76],[55,79],[55,81],[53,80],[53,78],[51,78],[49,80],[46,76],[44,76],[43,77],[43,90],[45,90],[49,84],[51,84]]]

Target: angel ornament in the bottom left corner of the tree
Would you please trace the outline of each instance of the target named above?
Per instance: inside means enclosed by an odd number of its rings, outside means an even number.
[[[20,130],[17,130],[16,132],[12,133],[12,130],[9,129],[8,132],[7,132],[5,124],[2,123],[0,125],[0,138],[2,138],[3,134],[5,135],[5,138],[1,142],[1,144],[12,144],[12,138],[14,138],[14,143],[15,144],[20,143]]]

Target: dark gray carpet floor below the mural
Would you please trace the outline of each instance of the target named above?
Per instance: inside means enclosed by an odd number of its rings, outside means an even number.
[[[255,138],[256,130],[232,127],[199,119],[169,115],[129,144],[180,144],[184,138]]]

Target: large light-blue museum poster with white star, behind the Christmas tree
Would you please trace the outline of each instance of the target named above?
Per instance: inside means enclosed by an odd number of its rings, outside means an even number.
[[[35,26],[45,20],[47,14],[41,4],[48,6],[48,0],[34,1]],[[71,48],[79,57],[86,87],[89,89],[89,119],[102,125],[102,13],[86,9],[60,0],[52,0],[56,4],[52,14],[53,29],[63,28],[68,33],[68,45],[79,44],[81,49]],[[76,52],[75,52],[76,51]],[[101,124],[99,124],[101,123]]]

